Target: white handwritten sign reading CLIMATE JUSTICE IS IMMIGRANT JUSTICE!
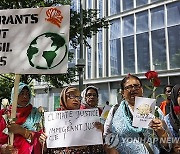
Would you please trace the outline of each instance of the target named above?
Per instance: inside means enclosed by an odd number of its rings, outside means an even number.
[[[47,147],[103,144],[102,132],[94,127],[98,109],[45,112]]]

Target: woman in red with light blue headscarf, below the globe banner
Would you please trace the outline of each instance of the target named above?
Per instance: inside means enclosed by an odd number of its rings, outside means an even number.
[[[41,153],[40,136],[41,113],[30,104],[31,89],[27,84],[19,83],[16,119],[10,118],[12,106],[0,111],[0,153],[1,154],[31,154]],[[13,102],[14,88],[11,92]],[[13,146],[8,145],[8,135],[5,131],[14,133]]]

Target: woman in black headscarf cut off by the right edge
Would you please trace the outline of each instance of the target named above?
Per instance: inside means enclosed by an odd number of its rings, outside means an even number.
[[[170,113],[165,116],[165,122],[174,139],[179,140],[179,143],[174,144],[173,150],[180,153],[180,84],[172,88]]]

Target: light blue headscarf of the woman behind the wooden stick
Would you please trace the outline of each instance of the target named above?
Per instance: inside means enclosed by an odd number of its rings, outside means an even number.
[[[28,106],[30,104],[30,102],[31,102],[31,88],[27,84],[20,82],[19,87],[18,87],[18,95],[20,94],[20,92],[22,91],[22,89],[24,87],[26,87],[29,90],[29,98],[30,99],[29,99],[29,102],[26,105],[26,106]],[[14,87],[12,88],[12,91],[11,91],[11,104],[13,102],[13,99],[14,99]],[[21,106],[18,105],[18,107],[21,107]]]

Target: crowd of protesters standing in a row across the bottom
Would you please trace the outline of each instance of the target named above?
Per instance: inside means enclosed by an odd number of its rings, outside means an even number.
[[[10,119],[12,105],[0,110],[0,154],[160,154],[180,153],[180,143],[168,142],[168,138],[180,137],[180,84],[164,88],[166,100],[156,106],[158,118],[151,120],[150,128],[132,125],[136,97],[143,97],[143,85],[135,75],[127,75],[121,81],[122,101],[112,106],[105,123],[97,121],[94,125],[102,132],[103,144],[76,147],[47,148],[47,134],[41,123],[42,107],[31,105],[31,89],[19,84],[16,119]],[[13,102],[14,88],[11,102]],[[86,87],[82,93],[73,86],[65,87],[60,93],[60,108],[65,110],[85,110],[98,108],[99,93],[94,86]],[[109,105],[109,102],[108,102]],[[9,144],[8,132],[13,133],[13,145]],[[122,138],[157,138],[153,143],[124,142]],[[165,142],[160,142],[163,139]]]

